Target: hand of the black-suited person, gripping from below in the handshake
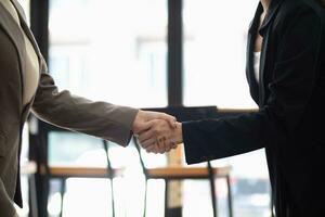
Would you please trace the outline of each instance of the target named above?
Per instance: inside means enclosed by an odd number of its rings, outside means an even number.
[[[176,127],[160,119],[148,123],[150,129],[139,136],[139,142],[143,149],[153,153],[165,153],[176,149],[183,142],[182,124],[176,123]]]

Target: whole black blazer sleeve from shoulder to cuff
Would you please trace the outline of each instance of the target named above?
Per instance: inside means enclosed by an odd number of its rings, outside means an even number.
[[[266,103],[258,112],[237,117],[183,123],[188,164],[265,145],[278,149],[294,137],[315,89],[323,26],[308,7],[288,12],[276,25],[271,30],[271,46],[276,46],[277,52],[271,63],[272,80],[265,84],[270,92]]]

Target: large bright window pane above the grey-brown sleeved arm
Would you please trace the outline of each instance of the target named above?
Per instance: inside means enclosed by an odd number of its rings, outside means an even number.
[[[49,65],[61,89],[115,104],[167,105],[166,0],[50,2]]]

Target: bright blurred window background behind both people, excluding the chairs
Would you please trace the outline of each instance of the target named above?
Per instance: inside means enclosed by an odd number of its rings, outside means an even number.
[[[245,49],[247,28],[258,0],[20,2],[61,90],[134,107],[257,108],[246,84]],[[38,138],[41,126],[34,117],[26,124],[22,154],[25,163],[39,159],[30,152],[43,145]],[[50,167],[106,167],[105,151],[96,138],[55,130],[47,138],[44,154]],[[132,144],[127,149],[110,144],[109,149],[112,166],[126,171],[114,179],[116,216],[143,216],[144,176],[136,150]],[[168,166],[170,157],[146,153],[143,156],[147,168]],[[179,157],[182,166],[187,167],[183,154]],[[263,150],[211,164],[232,167],[233,216],[271,216]],[[40,174],[40,166],[36,167],[36,174]],[[29,179],[35,176],[34,186],[42,188],[40,175],[22,176],[25,206],[18,213],[22,217],[32,216],[30,203],[35,196],[30,196]],[[224,180],[217,179],[216,186],[218,216],[230,216]],[[183,216],[212,216],[208,181],[184,180],[180,187]],[[165,215],[164,189],[162,180],[150,180],[147,216]],[[64,194],[60,191],[61,182],[50,179],[46,202],[50,217],[112,215],[106,179],[72,177],[66,180]],[[41,199],[40,192],[34,193],[37,200]],[[44,215],[42,212],[39,215]]]

